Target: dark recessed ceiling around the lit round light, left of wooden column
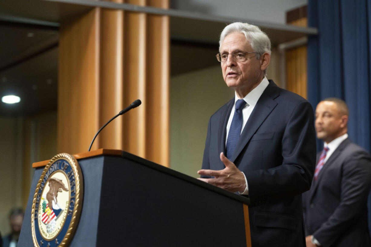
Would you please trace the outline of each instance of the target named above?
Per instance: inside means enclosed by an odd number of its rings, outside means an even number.
[[[29,116],[57,109],[58,29],[0,22],[0,116]]]

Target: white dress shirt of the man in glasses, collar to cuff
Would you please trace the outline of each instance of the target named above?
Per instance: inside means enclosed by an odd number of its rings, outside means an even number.
[[[247,104],[242,109],[242,128],[241,128],[241,133],[242,133],[243,128],[245,127],[246,122],[249,119],[249,117],[250,117],[253,109],[255,108],[255,105],[256,105],[257,101],[259,100],[260,96],[262,96],[264,90],[267,88],[268,85],[269,85],[268,79],[264,76],[262,82],[260,82],[259,85],[256,86],[256,88],[254,88],[253,90],[251,90],[251,92],[249,92],[243,98],[243,100]],[[231,114],[229,115],[229,119],[228,119],[228,123],[227,123],[227,131],[226,131],[227,135],[226,135],[226,143],[225,143],[226,145],[227,145],[227,139],[228,139],[228,134],[229,134],[229,128],[230,128],[230,126],[232,124],[232,119],[233,119],[233,115],[234,115],[234,109],[236,109],[235,108],[236,101],[238,99],[240,99],[240,98],[238,98],[237,93],[235,93],[235,96],[234,96],[234,105],[233,105]],[[245,174],[243,172],[242,172],[242,174],[245,177],[246,189],[243,192],[239,192],[239,193],[242,194],[242,195],[248,195],[249,194],[249,187],[247,185],[247,179],[246,179],[246,176],[245,176]]]

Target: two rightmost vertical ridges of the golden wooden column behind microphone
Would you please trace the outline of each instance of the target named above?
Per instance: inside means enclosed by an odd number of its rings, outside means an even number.
[[[127,2],[145,5],[142,0]],[[168,7],[168,1],[147,3]],[[127,11],[124,23],[124,102],[142,101],[124,116],[124,150],[168,166],[169,17]]]

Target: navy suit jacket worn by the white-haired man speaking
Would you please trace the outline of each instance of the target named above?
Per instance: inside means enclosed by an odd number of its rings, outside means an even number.
[[[203,169],[225,168],[219,154],[225,154],[233,104],[210,118]],[[253,247],[305,246],[301,194],[311,187],[315,167],[313,121],[308,101],[269,80],[231,159],[247,178]]]

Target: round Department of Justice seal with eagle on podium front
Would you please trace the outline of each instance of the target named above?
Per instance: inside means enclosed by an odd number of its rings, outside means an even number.
[[[83,180],[75,157],[62,153],[44,168],[32,201],[31,229],[35,247],[68,246],[75,233]]]

